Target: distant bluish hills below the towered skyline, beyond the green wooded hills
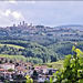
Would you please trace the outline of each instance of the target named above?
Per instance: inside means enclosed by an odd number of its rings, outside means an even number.
[[[77,30],[76,30],[77,29]],[[49,45],[59,41],[83,41],[82,25],[62,25],[50,28],[35,25],[35,28],[0,28],[0,40],[27,40],[41,45]]]

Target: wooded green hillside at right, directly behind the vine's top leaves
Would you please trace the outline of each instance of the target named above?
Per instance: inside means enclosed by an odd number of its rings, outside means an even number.
[[[46,48],[49,50],[52,50],[55,52],[59,56],[59,59],[64,59],[65,55],[72,54],[72,46],[75,45],[76,48],[81,49],[83,51],[83,42],[70,42],[70,41],[63,41],[63,42],[58,42],[53,43],[51,45],[48,45]]]

